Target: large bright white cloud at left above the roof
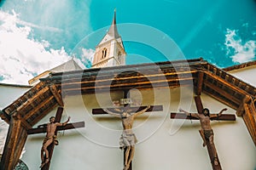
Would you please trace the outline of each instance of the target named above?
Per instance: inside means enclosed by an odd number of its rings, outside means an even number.
[[[0,77],[2,82],[27,84],[27,81],[46,70],[61,65],[71,57],[64,48],[49,48],[49,42],[29,38],[32,28],[17,26],[23,23],[17,14],[0,11]],[[90,51],[90,50],[89,50]],[[80,63],[81,64],[81,63]]]

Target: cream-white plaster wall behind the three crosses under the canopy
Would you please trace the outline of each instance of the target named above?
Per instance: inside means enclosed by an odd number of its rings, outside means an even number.
[[[164,111],[147,112],[134,122],[137,136],[133,169],[212,169],[207,148],[202,147],[198,130],[200,123],[189,120],[171,120],[170,112],[178,108],[196,112],[193,88],[168,88],[131,91],[131,98],[142,105],[163,105]],[[64,99],[65,112],[61,122],[71,116],[71,122],[84,121],[85,127],[58,133],[60,144],[55,147],[50,169],[120,170],[123,151],[119,150],[122,126],[119,118],[92,115],[94,108],[112,107],[111,100],[122,98],[122,93],[69,96]],[[212,113],[228,108],[206,94],[202,103]],[[56,111],[56,109],[55,109]],[[49,122],[51,111],[38,124]],[[236,122],[212,122],[214,141],[223,169],[241,170],[256,167],[256,149],[241,117]],[[40,165],[40,148],[45,134],[28,137],[22,160],[30,169]]]

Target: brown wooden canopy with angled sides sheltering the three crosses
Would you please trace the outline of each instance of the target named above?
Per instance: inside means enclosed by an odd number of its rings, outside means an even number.
[[[183,86],[193,86],[196,95],[201,92],[208,94],[235,109],[237,116],[242,116],[256,145],[255,87],[203,59],[123,65],[51,73],[4,108],[0,116],[10,126],[0,169],[15,166],[26,142],[27,131],[55,106],[63,106],[62,95]]]

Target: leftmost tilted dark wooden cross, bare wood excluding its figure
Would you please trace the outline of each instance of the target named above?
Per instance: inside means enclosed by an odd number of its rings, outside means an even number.
[[[55,115],[55,122],[61,122],[61,116],[62,116],[63,108],[58,107],[58,110]],[[85,127],[84,122],[74,122],[74,123],[68,123],[66,126],[63,127],[57,127],[55,130],[55,135],[57,135],[58,131],[61,130],[67,130],[67,129],[73,129],[73,128],[79,128],[79,127]],[[46,126],[44,127],[38,127],[38,128],[32,128],[28,130],[27,134],[36,134],[36,133],[46,133]],[[41,167],[41,170],[49,170],[49,164],[51,157],[53,155],[53,150],[55,148],[55,144],[49,144],[47,150],[49,150],[49,162],[44,165],[44,167]]]

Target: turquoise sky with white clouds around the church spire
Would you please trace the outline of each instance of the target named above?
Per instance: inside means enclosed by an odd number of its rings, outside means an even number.
[[[203,57],[226,67],[255,59],[254,0],[3,0],[0,81],[27,84],[73,55],[90,67],[114,8],[128,65]]]

